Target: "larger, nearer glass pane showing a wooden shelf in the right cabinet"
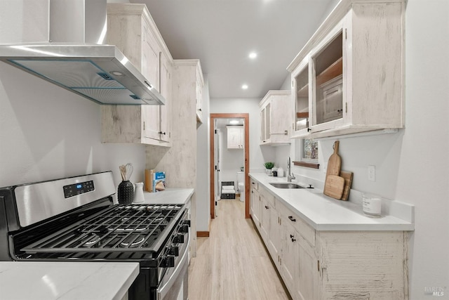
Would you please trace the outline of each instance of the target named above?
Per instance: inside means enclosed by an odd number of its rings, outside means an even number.
[[[343,117],[343,34],[340,32],[314,58],[314,125]]]

